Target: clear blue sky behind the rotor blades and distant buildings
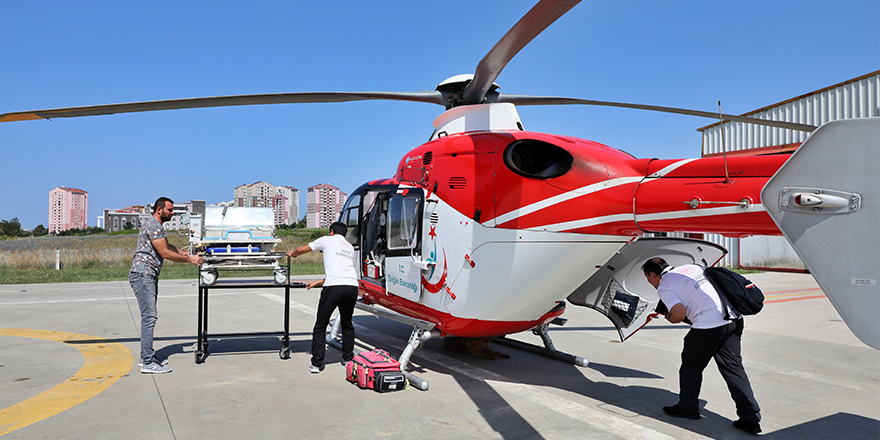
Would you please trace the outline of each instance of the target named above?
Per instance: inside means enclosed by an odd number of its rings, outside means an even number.
[[[433,90],[473,73],[534,1],[38,1],[0,14],[0,113],[199,96]],[[880,2],[584,0],[501,73],[501,91],[744,113],[880,69]],[[390,177],[442,107],[176,110],[0,124],[0,219],[48,225],[56,186],[105,208],[231,200],[261,180],[351,192]],[[714,121],[520,107],[527,130],[637,157],[700,154]]]

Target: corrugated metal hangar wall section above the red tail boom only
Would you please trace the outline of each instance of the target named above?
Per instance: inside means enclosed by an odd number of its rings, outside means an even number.
[[[759,119],[822,125],[835,119],[880,116],[880,71],[799,98],[747,113]],[[809,133],[745,122],[725,122],[700,129],[703,154],[740,151],[803,142]]]

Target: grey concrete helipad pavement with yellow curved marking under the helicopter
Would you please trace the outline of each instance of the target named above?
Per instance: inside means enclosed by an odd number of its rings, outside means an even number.
[[[310,279],[312,277],[297,277]],[[767,294],[748,317],[746,370],[770,438],[880,437],[880,351],[849,331],[810,275],[750,274]],[[194,362],[197,287],[162,281],[156,342],[174,371],[139,372],[139,312],[127,282],[0,286],[0,436],[10,439],[747,438],[714,363],[703,419],[674,419],[686,326],[655,320],[625,343],[597,312],[569,305],[551,329],[576,367],[493,344],[511,359],[450,353],[431,340],[410,371],[430,382],[379,394],[343,378],[340,353],[309,374],[318,293],[291,290],[291,358],[275,336],[210,339]],[[283,289],[211,292],[210,331],[283,328]],[[409,326],[356,312],[357,349],[398,356]],[[512,336],[539,343],[531,334]],[[89,351],[90,350],[90,351]],[[126,353],[126,351],[128,353]],[[129,356],[126,358],[126,356]],[[117,368],[120,363],[126,367]],[[24,425],[24,426],[23,426]]]

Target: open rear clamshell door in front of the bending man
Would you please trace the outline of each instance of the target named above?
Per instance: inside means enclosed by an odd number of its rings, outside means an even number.
[[[660,297],[642,273],[642,264],[660,257],[671,266],[711,266],[727,250],[690,238],[639,238],[625,245],[590,279],[568,296],[572,304],[590,307],[608,317],[625,341],[648,322]]]

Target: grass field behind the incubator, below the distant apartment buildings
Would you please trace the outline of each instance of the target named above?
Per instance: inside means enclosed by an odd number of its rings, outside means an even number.
[[[286,252],[326,234],[325,229],[279,229],[276,252]],[[167,232],[178,248],[189,245],[187,237]],[[81,237],[26,237],[0,240],[0,284],[74,283],[128,280],[137,231]],[[60,257],[61,270],[55,270]],[[291,260],[291,275],[323,274],[321,254],[308,253]],[[271,270],[225,270],[221,278],[272,276]],[[198,268],[166,261],[160,279],[196,279]]]

